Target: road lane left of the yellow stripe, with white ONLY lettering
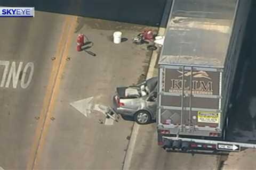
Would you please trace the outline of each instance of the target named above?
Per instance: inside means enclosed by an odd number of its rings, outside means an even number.
[[[36,15],[31,19],[1,18],[0,166],[4,169],[25,169],[31,161],[37,126],[44,119],[44,98],[51,92],[52,67],[58,65],[58,59],[51,58],[61,57],[58,43],[65,16]],[[66,35],[62,37],[66,39]]]

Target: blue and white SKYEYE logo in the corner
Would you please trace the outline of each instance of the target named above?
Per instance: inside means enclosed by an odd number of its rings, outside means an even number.
[[[34,7],[0,7],[0,17],[34,17]]]

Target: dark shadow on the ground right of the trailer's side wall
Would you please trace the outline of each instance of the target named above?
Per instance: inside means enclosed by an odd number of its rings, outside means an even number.
[[[255,3],[255,2],[254,2]],[[255,4],[252,6],[255,8]],[[233,107],[229,112],[227,140],[256,143],[256,17],[251,10],[244,44],[239,56],[235,85],[231,95]]]

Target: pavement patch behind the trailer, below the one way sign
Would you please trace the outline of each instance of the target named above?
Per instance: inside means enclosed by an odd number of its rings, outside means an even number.
[[[140,126],[130,169],[218,169],[220,156],[166,152],[157,146],[156,125]]]

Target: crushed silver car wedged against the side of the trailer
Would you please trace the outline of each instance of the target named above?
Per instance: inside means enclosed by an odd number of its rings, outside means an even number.
[[[157,77],[137,86],[117,87],[113,109],[122,117],[132,117],[138,124],[156,119]]]

